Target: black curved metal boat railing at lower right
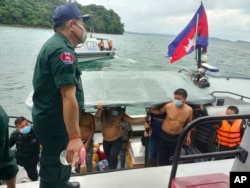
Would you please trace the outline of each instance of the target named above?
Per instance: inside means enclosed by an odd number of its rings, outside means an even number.
[[[238,147],[236,150],[231,151],[220,151],[220,152],[211,152],[211,153],[203,153],[203,154],[194,154],[194,155],[185,155],[181,156],[181,148],[184,142],[184,139],[186,137],[186,134],[192,130],[195,126],[202,125],[204,122],[218,122],[221,120],[226,119],[250,119],[250,114],[245,115],[226,115],[226,116],[206,116],[206,117],[200,117],[192,121],[190,124],[188,124],[180,134],[174,157],[173,157],[173,163],[171,168],[171,174],[169,178],[169,184],[168,187],[171,188],[172,180],[176,176],[177,168],[178,168],[178,162],[179,161],[188,161],[193,159],[204,159],[204,158],[210,158],[210,157],[226,157],[226,156],[237,156],[239,160],[242,162],[245,162],[248,152],[244,150],[242,147]]]

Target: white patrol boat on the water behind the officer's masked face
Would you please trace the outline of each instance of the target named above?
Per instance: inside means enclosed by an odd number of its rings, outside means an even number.
[[[76,57],[79,63],[92,62],[103,59],[112,59],[115,56],[115,48],[109,49],[104,46],[103,50],[100,50],[98,43],[103,40],[104,44],[108,44],[109,39],[105,38],[88,38],[84,44],[79,44],[75,48]]]

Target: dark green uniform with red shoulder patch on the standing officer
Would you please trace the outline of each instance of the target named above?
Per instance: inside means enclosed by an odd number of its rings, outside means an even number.
[[[55,33],[42,47],[33,75],[34,130],[42,144],[40,188],[65,187],[70,166],[60,163],[59,155],[66,149],[68,134],[63,119],[60,88],[76,86],[79,111],[84,106],[81,69],[73,46],[60,33]]]

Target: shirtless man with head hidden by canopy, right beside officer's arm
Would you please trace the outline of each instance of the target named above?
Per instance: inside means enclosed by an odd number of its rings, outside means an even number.
[[[93,136],[95,133],[95,118],[92,114],[83,111],[80,119],[80,132],[86,149],[87,172],[92,172]]]

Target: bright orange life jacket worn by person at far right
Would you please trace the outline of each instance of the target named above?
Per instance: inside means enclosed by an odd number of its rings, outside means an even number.
[[[226,147],[235,147],[241,141],[241,119],[234,120],[230,125],[227,120],[222,121],[222,125],[217,127],[217,140],[218,144]]]

